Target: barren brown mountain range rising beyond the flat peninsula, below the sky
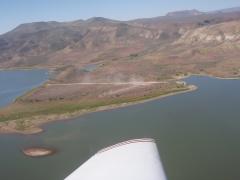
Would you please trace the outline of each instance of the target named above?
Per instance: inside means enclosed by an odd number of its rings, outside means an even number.
[[[95,78],[114,72],[144,76],[147,67],[154,76],[156,65],[162,69],[160,75],[238,73],[233,69],[240,64],[239,33],[239,7],[131,21],[94,17],[28,23],[0,36],[0,68],[55,68],[63,81],[79,79],[87,64],[104,65],[90,74]],[[129,69],[126,62],[133,60],[137,63]]]

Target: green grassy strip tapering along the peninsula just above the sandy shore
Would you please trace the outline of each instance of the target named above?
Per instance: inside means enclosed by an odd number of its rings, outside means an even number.
[[[169,93],[177,93],[188,90],[188,87],[179,87],[166,91],[153,92],[144,96],[135,96],[128,98],[114,98],[105,100],[74,100],[74,101],[51,101],[51,102],[19,102],[0,110],[0,122],[11,120],[24,120],[41,115],[61,115],[65,113],[74,113],[81,110],[93,110],[109,105],[118,105],[122,103],[133,103],[146,99],[151,99],[166,95]]]

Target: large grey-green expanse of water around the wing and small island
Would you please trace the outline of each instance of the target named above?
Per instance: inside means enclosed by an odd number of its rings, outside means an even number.
[[[192,76],[197,91],[0,135],[0,179],[62,180],[98,150],[132,138],[157,141],[168,180],[240,178],[240,80]],[[58,153],[30,158],[21,149]],[[91,172],[90,172],[91,173]]]

